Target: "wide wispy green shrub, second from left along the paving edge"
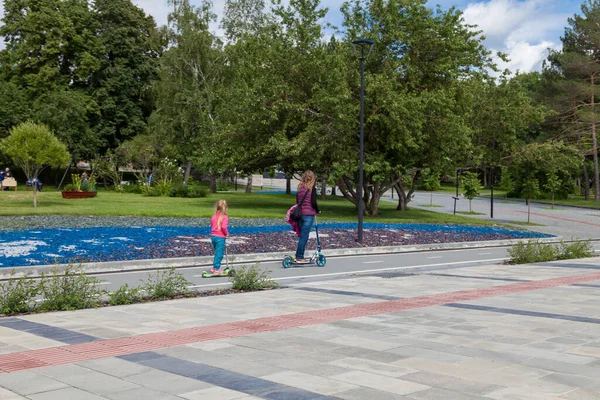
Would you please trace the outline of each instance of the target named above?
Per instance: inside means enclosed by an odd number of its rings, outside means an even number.
[[[102,300],[98,278],[88,276],[81,265],[69,265],[64,273],[54,269],[50,275],[42,274],[38,291],[42,297],[41,311],[68,311],[97,307]]]

